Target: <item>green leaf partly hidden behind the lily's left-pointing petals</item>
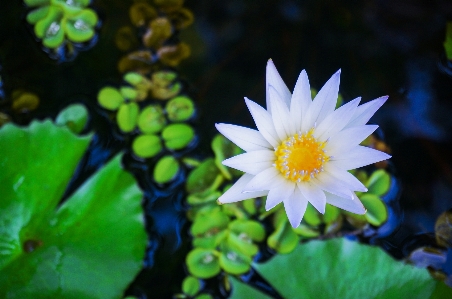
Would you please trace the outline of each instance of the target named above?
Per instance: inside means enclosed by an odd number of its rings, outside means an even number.
[[[223,161],[227,158],[243,153],[241,148],[221,134],[215,135],[212,140],[211,147],[215,154],[215,164],[225,178],[231,180],[233,176],[239,176],[241,174],[240,171],[223,165]]]

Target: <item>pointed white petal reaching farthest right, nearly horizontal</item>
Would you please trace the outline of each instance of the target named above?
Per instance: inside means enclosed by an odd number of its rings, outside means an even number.
[[[390,155],[377,151],[370,147],[358,145],[350,151],[339,156],[334,156],[328,163],[344,170],[363,167],[372,163],[380,162],[391,158]]]

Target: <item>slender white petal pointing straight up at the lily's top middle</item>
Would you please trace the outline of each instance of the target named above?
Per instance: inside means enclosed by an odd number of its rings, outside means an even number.
[[[295,131],[301,130],[301,120],[312,103],[311,88],[309,87],[309,79],[305,70],[302,70],[298,76],[297,83],[290,101],[290,119],[295,126]]]

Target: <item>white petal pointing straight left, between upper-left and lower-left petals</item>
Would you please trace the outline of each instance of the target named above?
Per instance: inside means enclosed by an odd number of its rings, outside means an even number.
[[[274,161],[274,151],[260,150],[226,159],[223,161],[223,165],[256,175],[267,168],[273,167],[272,164]]]

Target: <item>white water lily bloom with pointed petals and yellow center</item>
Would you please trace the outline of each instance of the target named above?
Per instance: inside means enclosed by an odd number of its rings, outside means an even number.
[[[220,133],[246,153],[223,161],[245,172],[218,201],[231,203],[267,196],[266,210],[283,202],[297,227],[310,202],[320,213],[325,205],[364,214],[354,191],[366,187],[348,170],[390,158],[359,145],[378,126],[366,125],[387,96],[358,106],[361,98],[335,109],[340,71],[325,83],[314,100],[303,70],[293,94],[272,60],[267,63],[267,110],[245,98],[258,130],[216,124]]]

